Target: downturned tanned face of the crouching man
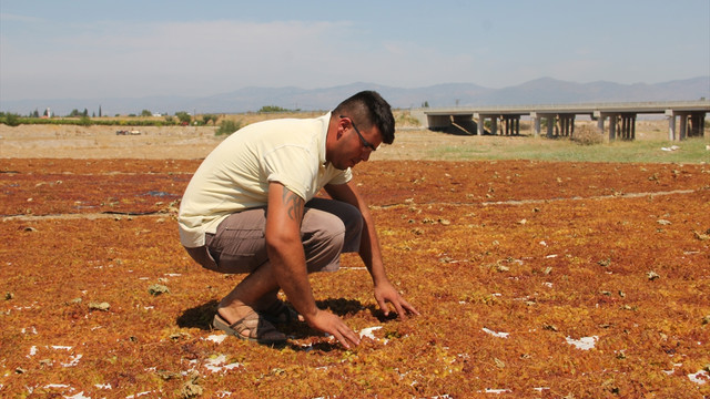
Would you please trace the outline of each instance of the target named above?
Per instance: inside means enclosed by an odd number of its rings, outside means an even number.
[[[369,155],[382,144],[377,127],[373,126],[368,131],[359,130],[347,116],[341,116],[338,132],[341,134],[331,162],[339,170],[346,170],[369,160]]]

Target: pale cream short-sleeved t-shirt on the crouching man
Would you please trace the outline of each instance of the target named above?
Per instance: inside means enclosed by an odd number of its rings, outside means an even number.
[[[282,119],[251,124],[217,145],[192,176],[180,204],[180,242],[204,245],[229,215],[266,206],[268,184],[278,182],[313,198],[326,184],[352,178],[325,160],[331,113],[317,119]]]

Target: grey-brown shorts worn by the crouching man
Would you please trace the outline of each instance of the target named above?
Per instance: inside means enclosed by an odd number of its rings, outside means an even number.
[[[337,270],[342,253],[359,250],[362,214],[347,203],[325,198],[311,200],[304,211],[301,239],[308,273]],[[209,269],[251,273],[268,260],[265,227],[265,207],[235,213],[220,223],[215,234],[206,234],[205,246],[211,259],[193,255],[197,248],[187,252]]]

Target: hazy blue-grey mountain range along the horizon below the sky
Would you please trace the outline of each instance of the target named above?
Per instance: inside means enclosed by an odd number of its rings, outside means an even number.
[[[190,113],[240,113],[257,111],[264,105],[276,105],[290,110],[329,110],[339,101],[361,90],[376,90],[399,109],[455,105],[529,105],[566,104],[589,102],[627,101],[683,101],[710,99],[710,76],[677,80],[656,84],[620,84],[613,82],[575,83],[551,78],[541,78],[519,85],[490,89],[473,83],[445,83],[425,88],[403,89],[374,83],[357,82],[324,89],[243,88],[232,92],[203,96],[149,96],[139,99],[62,99],[6,101],[0,111],[28,114],[50,108],[59,115],[71,110],[104,115],[139,114],[142,110],[174,114]]]

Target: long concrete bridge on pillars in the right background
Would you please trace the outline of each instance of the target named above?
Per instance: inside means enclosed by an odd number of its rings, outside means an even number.
[[[486,120],[490,121],[490,133],[497,134],[498,122],[501,122],[500,134],[520,134],[520,117],[529,116],[535,124],[535,135],[541,133],[541,121],[546,120],[547,137],[572,136],[575,117],[589,115],[597,121],[597,129],[605,133],[608,121],[609,140],[633,140],[636,137],[636,117],[638,114],[662,114],[668,117],[668,140],[677,141],[686,137],[704,136],[706,113],[710,112],[710,101],[668,101],[668,102],[628,102],[628,103],[589,103],[561,105],[510,105],[420,109],[419,120],[426,127],[444,130],[449,126],[476,125],[471,134],[484,134]],[[416,115],[417,111],[413,111]],[[676,123],[676,121],[679,123]],[[677,130],[677,124],[679,129]]]

